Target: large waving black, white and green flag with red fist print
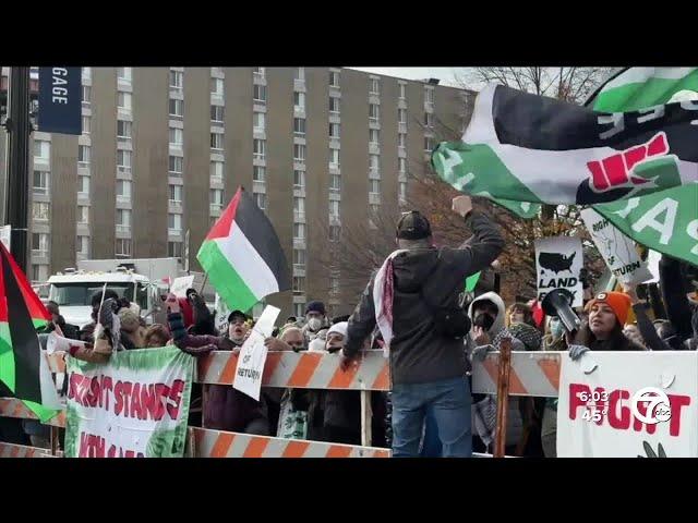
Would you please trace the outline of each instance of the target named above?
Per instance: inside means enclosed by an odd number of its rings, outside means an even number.
[[[698,180],[698,104],[607,114],[489,85],[462,142],[441,143],[434,169],[495,200],[597,204]]]

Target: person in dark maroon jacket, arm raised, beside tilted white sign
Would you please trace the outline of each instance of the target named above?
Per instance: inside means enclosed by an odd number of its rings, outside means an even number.
[[[230,313],[228,332],[225,336],[191,335],[184,328],[174,294],[168,295],[165,306],[169,311],[167,320],[172,340],[181,351],[197,357],[210,351],[240,352],[250,319],[243,312]],[[268,413],[264,394],[256,401],[229,385],[204,384],[203,397],[203,427],[268,436]]]

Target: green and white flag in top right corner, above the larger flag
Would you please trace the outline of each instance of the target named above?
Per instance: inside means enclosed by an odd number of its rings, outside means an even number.
[[[590,98],[594,111],[627,112],[696,99],[696,93],[698,68],[624,68],[599,86]]]

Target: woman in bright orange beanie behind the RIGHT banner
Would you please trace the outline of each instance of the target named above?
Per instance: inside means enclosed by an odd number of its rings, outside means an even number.
[[[643,346],[623,335],[630,304],[630,296],[624,292],[597,294],[585,307],[589,312],[589,320],[581,326],[570,344],[592,351],[645,351]]]

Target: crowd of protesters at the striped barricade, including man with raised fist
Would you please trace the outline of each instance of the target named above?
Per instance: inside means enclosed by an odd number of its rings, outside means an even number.
[[[586,351],[698,349],[696,267],[662,257],[658,285],[662,303],[641,300],[639,295],[648,293],[635,285],[624,287],[624,292],[586,292],[585,306],[576,311],[580,327],[570,332],[534,300],[507,306],[488,278],[473,293],[462,292],[466,277],[494,270],[505,245],[490,218],[472,210],[470,198],[456,198],[454,210],[464,217],[464,235],[467,227],[472,230],[459,248],[434,247],[426,218],[418,211],[405,214],[397,226],[398,250],[371,277],[351,316],[330,318],[325,305],[313,301],[303,318],[287,318],[265,341],[269,351],[332,354],[344,368],[362,350],[387,350],[392,391],[372,392],[372,446],[392,447],[396,457],[491,452],[496,399],[471,394],[470,374],[473,360],[497,350],[504,339],[512,340],[515,351],[568,351],[573,358]],[[386,301],[386,295],[392,300]],[[58,304],[50,302],[47,308],[52,316],[49,330],[86,342],[71,348],[70,355],[93,363],[108,362],[119,350],[165,345],[195,357],[210,351],[239,352],[254,324],[245,312],[233,311],[227,331],[219,332],[215,314],[194,289],[186,297],[169,294],[166,319],[149,326],[135,304],[111,290],[96,293],[92,307],[93,323],[80,331],[65,324]],[[665,312],[665,317],[652,320],[650,311]],[[556,399],[509,398],[506,453],[555,457],[556,409]],[[231,386],[195,385],[189,423],[263,436],[362,443],[356,390],[265,387],[256,401]],[[16,442],[28,445],[22,440],[28,436],[33,443],[46,445],[46,427],[32,421],[24,421],[22,427],[24,434],[12,435]]]

